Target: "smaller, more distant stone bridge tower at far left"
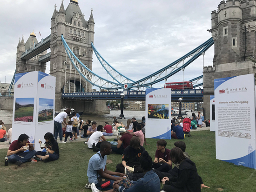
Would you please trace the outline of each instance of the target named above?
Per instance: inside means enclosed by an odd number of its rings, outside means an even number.
[[[39,62],[38,60],[42,55],[46,54],[47,51],[43,51],[29,60],[20,58],[22,54],[26,52],[26,50],[33,48],[37,43],[38,40],[36,39],[34,31],[30,33],[26,43],[24,42],[24,36],[22,35],[22,40],[21,42],[19,41],[17,46],[16,73],[26,73],[30,71],[41,71],[45,73],[46,63]]]

